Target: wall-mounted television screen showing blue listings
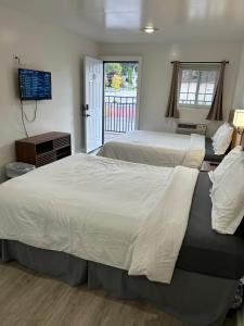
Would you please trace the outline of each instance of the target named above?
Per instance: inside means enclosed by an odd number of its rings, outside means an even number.
[[[51,100],[51,73],[31,70],[18,70],[21,100]]]

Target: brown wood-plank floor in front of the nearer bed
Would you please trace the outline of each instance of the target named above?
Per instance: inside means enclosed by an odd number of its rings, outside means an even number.
[[[229,324],[230,323],[230,324]],[[72,288],[15,262],[0,263],[1,326],[183,326],[156,309],[102,290]],[[234,325],[231,321],[228,326]],[[226,325],[226,326],[227,326]]]

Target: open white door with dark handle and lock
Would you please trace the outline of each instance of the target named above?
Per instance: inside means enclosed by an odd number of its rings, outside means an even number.
[[[89,153],[102,146],[103,126],[103,61],[85,58],[85,151]]]

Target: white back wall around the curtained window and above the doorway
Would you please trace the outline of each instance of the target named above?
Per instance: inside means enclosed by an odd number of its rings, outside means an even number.
[[[229,60],[224,85],[224,117],[232,108],[241,43],[181,43],[181,45],[100,45],[100,55],[141,55],[142,87],[140,102],[140,129],[172,131],[175,122],[166,120],[165,111],[171,80],[171,60],[180,61],[221,61]],[[207,110],[182,109],[181,121],[205,122]],[[210,123],[213,131],[218,123]]]

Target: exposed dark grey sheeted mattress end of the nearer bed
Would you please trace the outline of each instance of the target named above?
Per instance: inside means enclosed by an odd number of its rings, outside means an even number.
[[[189,225],[177,267],[213,276],[237,279],[244,275],[244,234],[242,226],[233,235],[220,235],[211,229],[210,180],[200,173]]]

